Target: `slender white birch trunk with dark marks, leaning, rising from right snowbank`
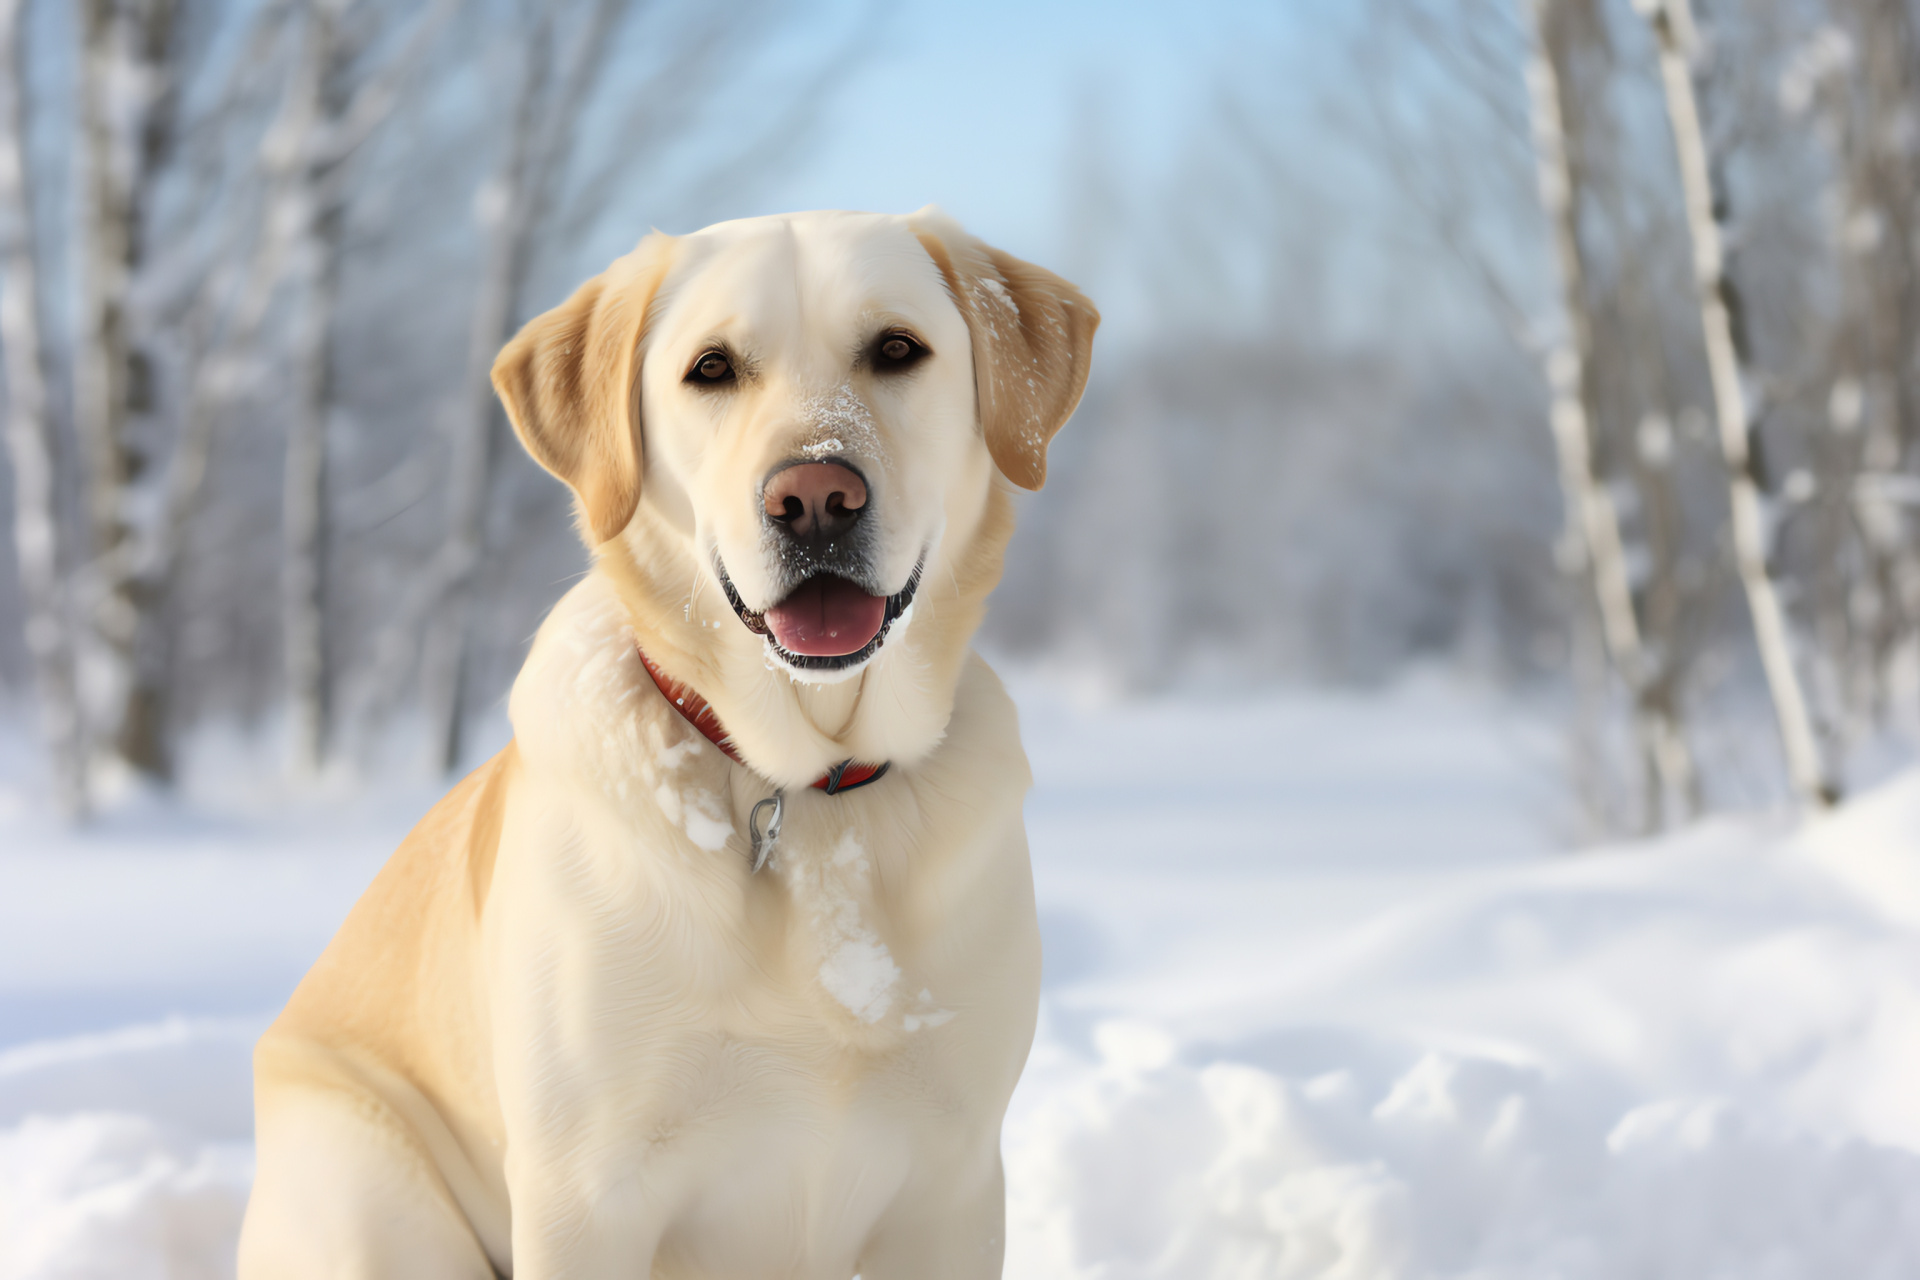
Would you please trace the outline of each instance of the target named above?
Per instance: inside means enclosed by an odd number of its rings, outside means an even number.
[[[1693,284],[1701,332],[1707,344],[1707,370],[1713,382],[1720,457],[1726,462],[1732,507],[1734,564],[1753,616],[1753,635],[1766,672],[1788,779],[1801,802],[1824,808],[1837,798],[1820,762],[1807,695],[1793,664],[1780,589],[1766,562],[1766,516],[1753,476],[1753,405],[1747,397],[1747,351],[1734,324],[1732,280],[1726,261],[1726,200],[1715,173],[1699,100],[1693,88],[1692,58],[1697,46],[1690,0],[1636,0],[1659,46],[1661,88],[1680,161],[1680,190],[1688,232],[1693,244]]]

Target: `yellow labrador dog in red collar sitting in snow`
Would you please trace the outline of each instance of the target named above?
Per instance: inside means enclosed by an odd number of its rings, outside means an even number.
[[[1000,1274],[1041,946],[970,639],[1098,319],[935,209],[803,213],[507,345],[595,568],[255,1052],[244,1280]]]

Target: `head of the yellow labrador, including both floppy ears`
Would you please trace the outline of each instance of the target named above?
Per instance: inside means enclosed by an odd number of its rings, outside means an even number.
[[[655,232],[493,367],[593,545],[641,501],[812,681],[887,643],[993,468],[1037,489],[1098,313],[935,209]]]

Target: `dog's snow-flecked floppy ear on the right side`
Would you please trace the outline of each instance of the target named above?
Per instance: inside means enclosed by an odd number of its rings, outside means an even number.
[[[987,453],[1021,489],[1039,489],[1046,441],[1087,390],[1100,313],[1054,273],[981,244],[933,205],[912,217],[912,228],[973,334]]]

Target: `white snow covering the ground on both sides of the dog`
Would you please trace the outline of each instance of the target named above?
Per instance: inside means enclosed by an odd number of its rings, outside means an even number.
[[[1920,1274],[1920,773],[1569,856],[1551,729],[1444,685],[1016,695],[1046,998],[1010,1276]],[[436,789],[69,835],[25,760],[0,1280],[230,1274],[250,1040]]]

